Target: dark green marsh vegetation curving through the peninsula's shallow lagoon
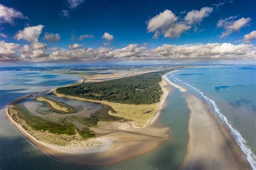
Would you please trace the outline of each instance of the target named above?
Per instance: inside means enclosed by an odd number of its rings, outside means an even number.
[[[20,119],[23,119],[24,121],[26,121],[26,124],[29,125],[34,130],[49,131],[50,133],[67,134],[67,135],[73,135],[73,134],[76,134],[76,132],[78,132],[80,136],[83,138],[91,138],[95,136],[95,134],[93,134],[89,128],[91,126],[96,126],[98,121],[117,121],[121,119],[121,118],[109,115],[108,111],[111,110],[112,112],[114,112],[114,110],[109,105],[105,105],[105,104],[102,104],[102,109],[97,111],[95,114],[91,114],[89,118],[71,116],[68,118],[64,118],[62,120],[62,124],[51,122],[39,116],[32,115],[30,111],[25,108],[22,101],[15,103],[13,109],[18,111],[17,116]],[[15,117],[12,117],[12,118],[15,120]],[[82,130],[79,130],[75,126],[75,124],[72,123],[73,121],[78,121],[84,124],[85,128]]]

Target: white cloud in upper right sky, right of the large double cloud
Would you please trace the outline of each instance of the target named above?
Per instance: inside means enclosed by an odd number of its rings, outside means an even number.
[[[237,18],[237,16],[231,16],[226,19],[220,19],[217,23],[217,28],[223,28],[224,31],[221,33],[220,38],[225,38],[234,31],[238,32],[241,30],[242,27],[247,26],[251,18],[240,18],[237,20],[234,20]]]

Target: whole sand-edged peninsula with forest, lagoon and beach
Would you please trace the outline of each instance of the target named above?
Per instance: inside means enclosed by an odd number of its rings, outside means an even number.
[[[23,96],[6,107],[5,117],[52,157],[76,164],[111,164],[168,139],[169,128],[151,123],[171,90],[163,79],[171,71]]]

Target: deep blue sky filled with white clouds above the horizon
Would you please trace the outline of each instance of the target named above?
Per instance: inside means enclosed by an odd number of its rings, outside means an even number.
[[[256,1],[0,1],[0,65],[256,59]]]

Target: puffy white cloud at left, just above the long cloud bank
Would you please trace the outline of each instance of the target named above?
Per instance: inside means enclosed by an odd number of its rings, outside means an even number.
[[[17,40],[26,40],[29,42],[38,42],[38,37],[42,33],[43,25],[25,27],[24,30],[19,30],[15,38]]]

